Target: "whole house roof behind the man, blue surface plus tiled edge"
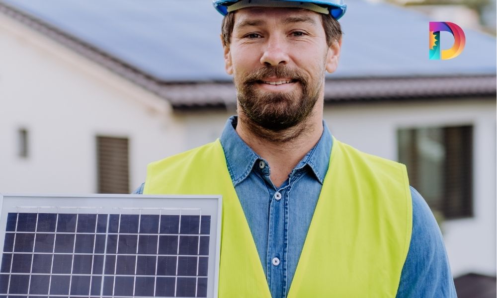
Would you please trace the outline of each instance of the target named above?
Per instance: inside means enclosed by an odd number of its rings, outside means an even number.
[[[0,11],[176,108],[233,104],[236,92],[219,41],[222,16],[210,0],[188,3],[0,0]],[[496,94],[494,37],[465,30],[460,56],[429,60],[427,17],[385,3],[347,5],[340,65],[327,77],[328,102]]]

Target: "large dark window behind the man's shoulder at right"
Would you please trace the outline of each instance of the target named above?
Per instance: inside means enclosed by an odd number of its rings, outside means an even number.
[[[398,131],[399,161],[410,184],[446,219],[473,215],[473,127]]]

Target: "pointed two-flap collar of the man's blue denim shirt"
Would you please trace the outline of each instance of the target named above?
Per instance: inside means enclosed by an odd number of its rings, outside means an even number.
[[[237,116],[230,117],[226,122],[220,138],[221,145],[226,156],[228,171],[230,172],[234,186],[237,186],[240,182],[247,178],[256,162],[263,160],[257,155],[257,153],[248,147],[248,145],[237,134],[235,131],[237,122]],[[295,171],[309,165],[321,184],[323,184],[326,172],[328,171],[330,152],[333,142],[330,130],[324,121],[323,128],[323,134],[321,135],[318,144],[316,144],[316,146],[311,149],[292,170],[293,174]]]

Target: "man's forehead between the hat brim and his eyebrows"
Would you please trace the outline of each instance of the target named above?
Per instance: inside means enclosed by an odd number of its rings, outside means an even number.
[[[303,8],[283,7],[247,7],[236,11],[235,29],[241,25],[277,25],[305,22],[311,25],[321,25],[321,15],[318,12]]]

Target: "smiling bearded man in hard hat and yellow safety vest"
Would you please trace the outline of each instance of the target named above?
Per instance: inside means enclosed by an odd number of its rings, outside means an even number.
[[[238,117],[151,163],[137,193],[222,194],[220,297],[455,297],[440,230],[404,165],[332,138],[329,0],[215,0]]]

